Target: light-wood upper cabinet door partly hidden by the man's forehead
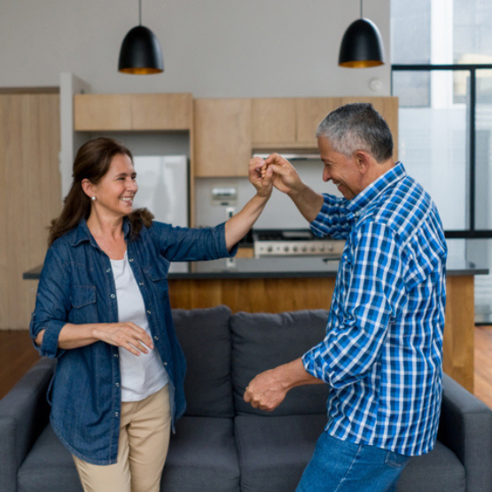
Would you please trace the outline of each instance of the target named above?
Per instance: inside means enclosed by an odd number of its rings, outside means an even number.
[[[341,105],[341,98],[297,98],[298,144],[317,149],[316,129],[324,117]]]

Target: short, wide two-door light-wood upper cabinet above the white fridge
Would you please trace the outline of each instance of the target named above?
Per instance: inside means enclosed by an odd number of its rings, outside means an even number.
[[[78,94],[74,96],[74,129],[188,130],[191,94]]]

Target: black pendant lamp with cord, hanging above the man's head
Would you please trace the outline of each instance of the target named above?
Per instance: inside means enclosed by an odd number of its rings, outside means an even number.
[[[363,0],[361,0],[361,19],[355,20],[348,26],[341,40],[339,65],[367,68],[384,63],[383,38],[378,26],[372,20],[363,19]]]

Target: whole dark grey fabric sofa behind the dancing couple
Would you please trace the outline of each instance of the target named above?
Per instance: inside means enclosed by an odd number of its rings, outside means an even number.
[[[188,362],[188,407],[171,438],[166,492],[293,491],[326,423],[324,385],[295,388],[277,410],[247,405],[257,373],[302,355],[324,337],[327,312],[232,315],[229,308],[173,311]],[[49,425],[42,359],[0,402],[0,490],[82,490],[72,458]],[[492,410],[445,377],[439,440],[414,457],[400,491],[492,490]]]

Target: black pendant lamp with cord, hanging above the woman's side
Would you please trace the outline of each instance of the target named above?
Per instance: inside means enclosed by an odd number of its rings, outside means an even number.
[[[129,30],[120,50],[118,71],[123,74],[160,74],[164,71],[162,50],[156,35],[142,26],[142,1],[138,0],[139,25]]]

